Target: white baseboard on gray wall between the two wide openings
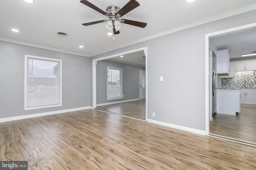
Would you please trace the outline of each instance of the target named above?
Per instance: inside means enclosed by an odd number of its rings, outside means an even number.
[[[162,125],[162,126],[166,126],[166,127],[171,127],[171,128],[179,129],[179,130],[182,130],[182,131],[192,132],[192,133],[196,133],[196,134],[199,134],[199,135],[206,135],[206,132],[205,132],[205,131],[198,130],[198,129],[192,129],[192,128],[190,128],[190,127],[184,127],[184,126],[174,125],[174,124],[165,123],[165,122],[162,122],[162,121],[156,121],[156,120],[152,120],[152,119],[148,119],[147,121],[148,121],[149,123],[154,123],[154,124],[157,124],[157,125]]]

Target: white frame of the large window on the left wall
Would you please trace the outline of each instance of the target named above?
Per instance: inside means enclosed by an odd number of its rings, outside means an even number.
[[[42,106],[31,106],[28,107],[27,97],[28,97],[28,58],[44,60],[44,61],[54,61],[58,62],[58,78],[59,78],[59,90],[60,90],[60,104],[49,104]],[[24,110],[32,110],[32,109],[41,109],[41,108],[49,108],[49,107],[57,107],[62,106],[62,60],[61,59],[53,59],[48,57],[39,57],[34,55],[25,55],[24,60]]]

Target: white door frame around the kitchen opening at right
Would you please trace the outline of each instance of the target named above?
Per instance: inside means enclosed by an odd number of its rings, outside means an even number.
[[[250,23],[247,25],[242,25],[238,27],[233,27],[230,29],[224,29],[221,31],[216,31],[213,33],[208,33],[205,35],[205,135],[209,136],[210,132],[210,108],[209,108],[209,48],[210,48],[210,43],[209,39],[213,37],[218,37],[221,35],[227,35],[230,33],[236,33],[240,31],[246,31],[248,29],[254,29],[256,28],[256,22],[255,23]]]

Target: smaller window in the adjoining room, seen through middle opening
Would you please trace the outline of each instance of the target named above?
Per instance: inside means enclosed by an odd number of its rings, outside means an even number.
[[[108,100],[122,99],[122,68],[108,67]]]

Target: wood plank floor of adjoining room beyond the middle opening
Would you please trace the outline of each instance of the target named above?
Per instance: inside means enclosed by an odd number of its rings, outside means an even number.
[[[146,120],[146,100],[135,100],[132,102],[123,102],[118,104],[110,104],[97,106],[96,109],[117,113],[136,119]]]

